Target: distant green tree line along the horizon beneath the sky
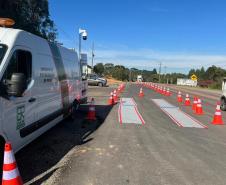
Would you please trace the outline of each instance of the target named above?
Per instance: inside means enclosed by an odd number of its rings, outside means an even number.
[[[136,81],[137,75],[142,75],[144,81],[171,83],[176,84],[177,78],[189,78],[195,74],[198,77],[200,85],[208,85],[212,88],[220,88],[222,78],[226,77],[226,70],[220,67],[211,66],[206,70],[204,67],[201,69],[191,69],[189,73],[167,73],[158,74],[157,70],[139,70],[136,68],[126,68],[123,65],[114,65],[112,63],[98,63],[94,66],[94,72],[100,76],[113,77],[122,81]]]

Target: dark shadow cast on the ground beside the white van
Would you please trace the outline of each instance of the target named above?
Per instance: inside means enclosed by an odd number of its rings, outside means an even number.
[[[64,120],[34,140],[16,154],[17,164],[24,183],[32,180],[32,185],[46,181],[57,170],[55,165],[74,147],[91,140],[95,132],[106,119],[112,107],[96,105],[97,120],[89,122],[85,119],[87,105],[82,105],[76,112],[76,119]]]

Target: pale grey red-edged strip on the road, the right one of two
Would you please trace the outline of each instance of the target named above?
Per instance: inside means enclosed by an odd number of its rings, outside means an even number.
[[[152,99],[152,101],[179,127],[207,128],[207,126],[180,110],[179,107],[175,107],[164,99]]]

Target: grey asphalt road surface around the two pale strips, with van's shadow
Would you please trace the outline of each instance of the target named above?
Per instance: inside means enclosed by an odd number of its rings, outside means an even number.
[[[98,119],[84,121],[81,107],[75,121],[63,121],[16,156],[26,184],[54,185],[224,185],[226,184],[226,127],[211,124],[214,93],[182,89],[199,94],[202,116],[171,97],[137,85],[128,85],[122,97],[133,97],[145,125],[119,124],[118,105],[106,105],[111,88],[91,88]],[[217,96],[217,95],[216,95]],[[151,99],[165,99],[208,126],[178,127]],[[223,113],[226,121],[226,112]],[[44,144],[43,144],[44,143]]]

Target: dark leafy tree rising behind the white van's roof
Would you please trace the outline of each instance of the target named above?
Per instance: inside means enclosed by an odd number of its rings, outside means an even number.
[[[15,20],[14,28],[23,29],[50,41],[55,41],[57,30],[50,19],[48,0],[0,1],[0,17]]]

